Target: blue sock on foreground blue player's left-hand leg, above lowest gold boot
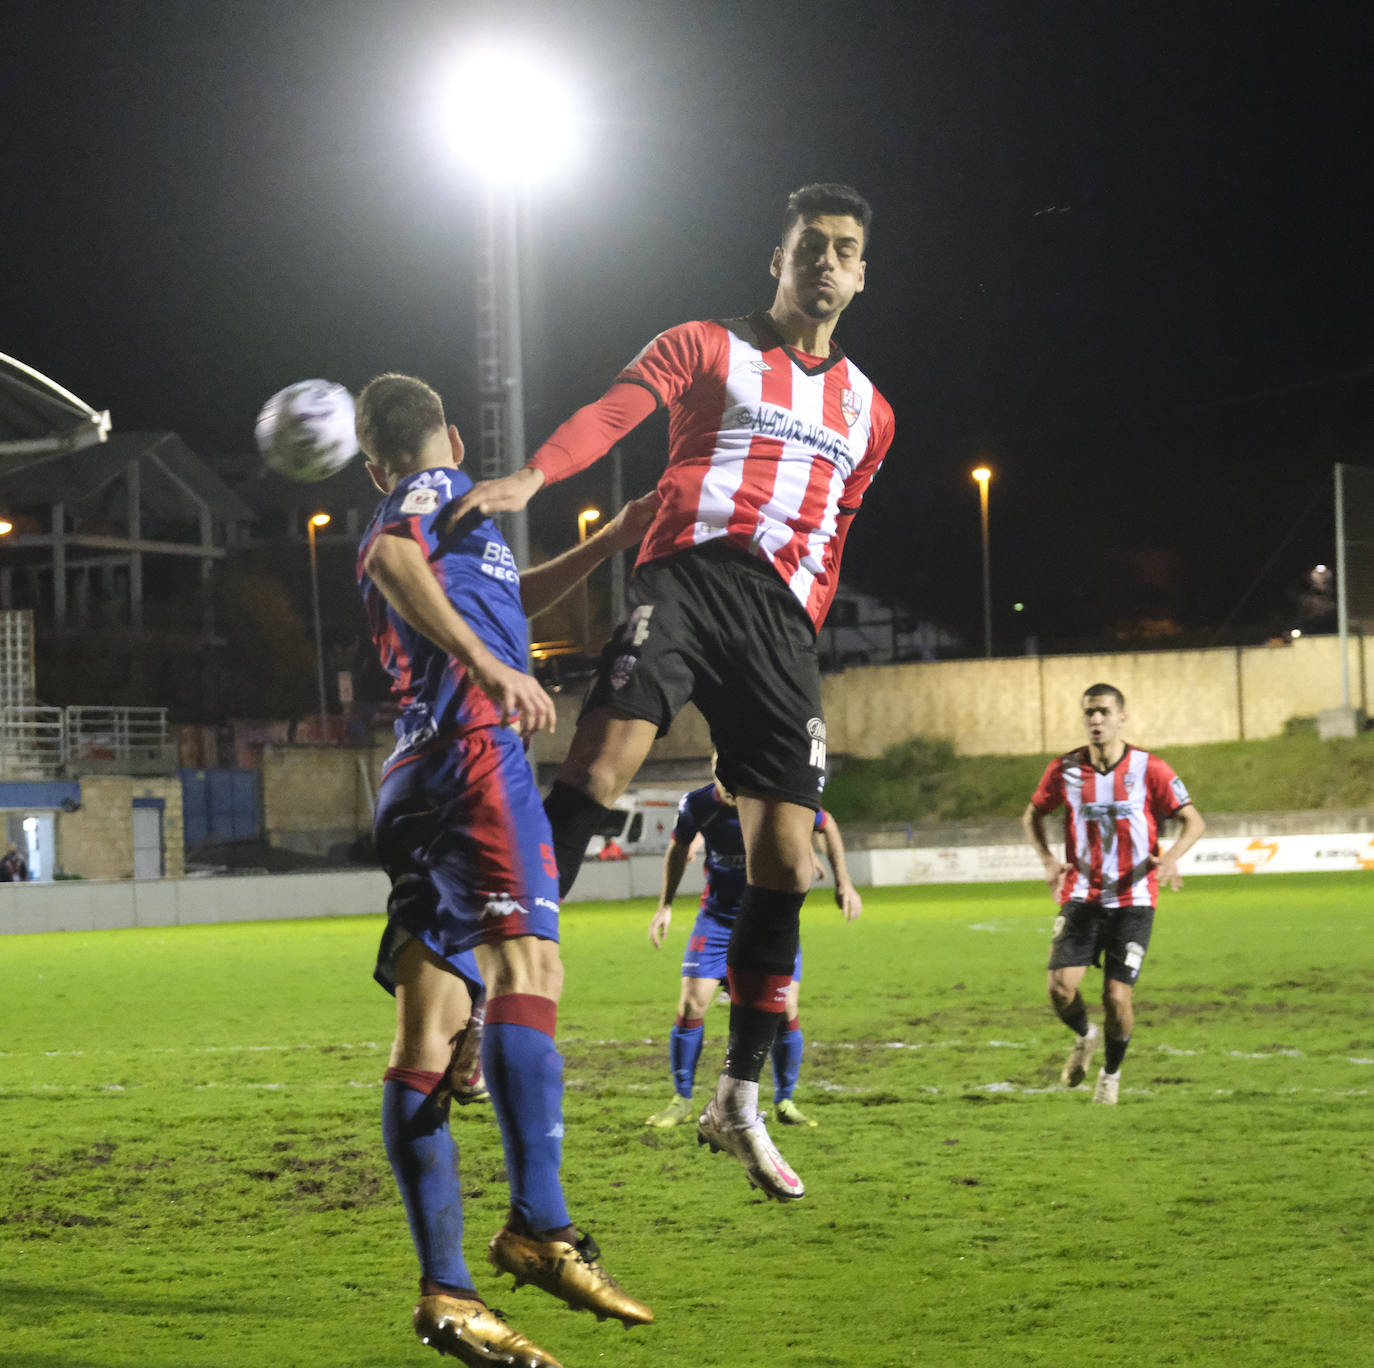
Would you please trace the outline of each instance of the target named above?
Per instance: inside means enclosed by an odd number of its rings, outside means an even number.
[[[396,1185],[405,1203],[411,1242],[420,1275],[453,1290],[473,1287],[463,1262],[463,1192],[458,1181],[458,1152],[448,1129],[448,1103],[434,1102],[412,1086],[412,1070],[396,1070],[382,1084],[382,1140],[392,1161]],[[431,1075],[434,1082],[442,1074]]]

